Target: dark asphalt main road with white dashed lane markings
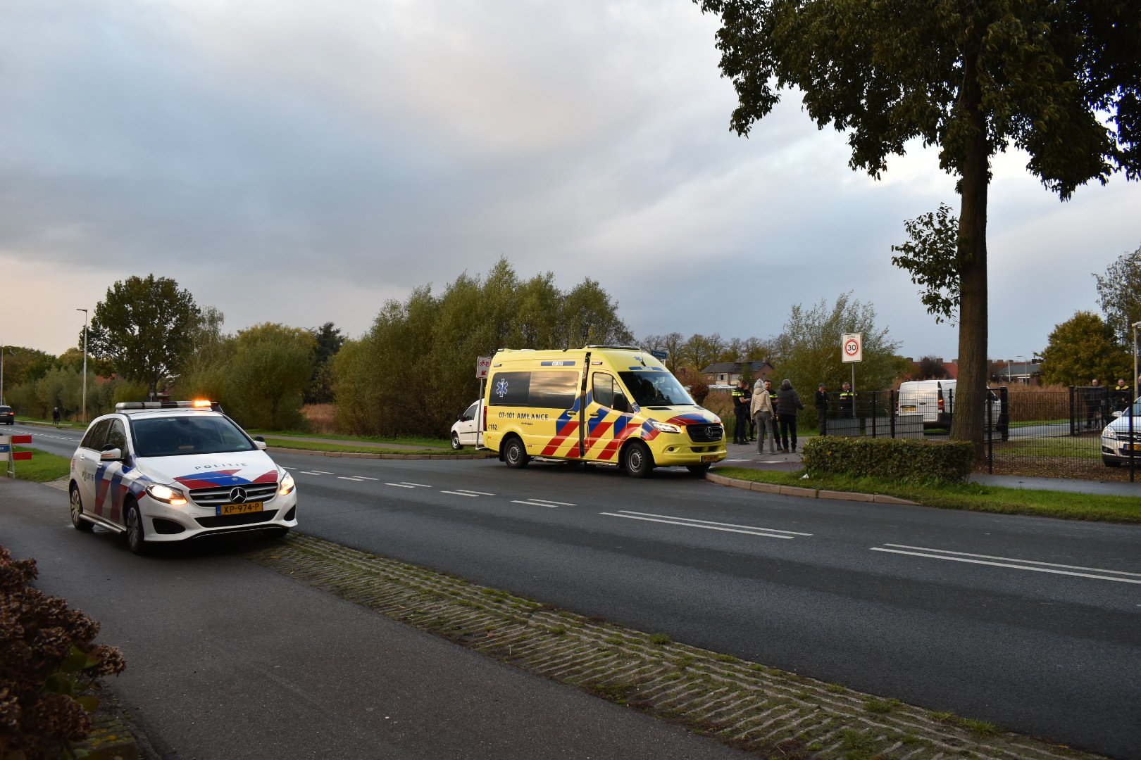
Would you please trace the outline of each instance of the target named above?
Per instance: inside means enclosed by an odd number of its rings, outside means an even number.
[[[685,471],[275,458],[315,536],[1141,757],[1141,528],[779,497]]]

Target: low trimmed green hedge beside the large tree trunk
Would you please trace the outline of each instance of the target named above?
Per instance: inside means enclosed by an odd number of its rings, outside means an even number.
[[[965,441],[827,435],[806,441],[803,459],[811,474],[960,482],[971,474],[974,447]]]

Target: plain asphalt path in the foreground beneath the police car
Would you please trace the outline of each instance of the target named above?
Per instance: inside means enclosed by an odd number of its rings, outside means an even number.
[[[74,530],[62,491],[0,477],[0,505],[37,587],[123,649],[107,686],[162,758],[745,757],[243,559],[258,540],[136,557]]]

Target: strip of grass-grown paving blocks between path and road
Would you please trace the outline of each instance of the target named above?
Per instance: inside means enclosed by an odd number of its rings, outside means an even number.
[[[414,628],[759,757],[1094,758],[297,534],[250,558]]]

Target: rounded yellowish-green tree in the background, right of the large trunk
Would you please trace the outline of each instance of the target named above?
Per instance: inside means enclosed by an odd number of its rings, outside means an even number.
[[[1114,341],[1112,329],[1095,313],[1077,312],[1054,326],[1049,340],[1042,352],[1046,385],[1089,385],[1094,377],[1111,385],[1133,375],[1133,356]]]

